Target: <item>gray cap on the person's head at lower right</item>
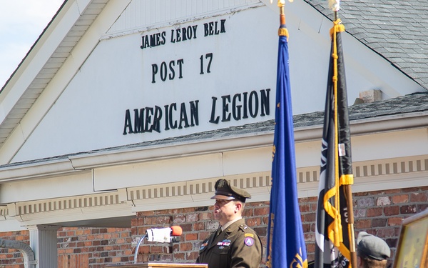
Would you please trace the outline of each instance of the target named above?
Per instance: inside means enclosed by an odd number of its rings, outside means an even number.
[[[391,256],[387,242],[367,232],[360,232],[357,237],[357,249],[366,256],[382,261]]]

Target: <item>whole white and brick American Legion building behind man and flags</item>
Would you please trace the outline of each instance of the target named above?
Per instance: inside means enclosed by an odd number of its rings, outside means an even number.
[[[332,26],[311,2],[286,4],[309,259]],[[29,244],[33,267],[95,268],[133,262],[146,229],[180,225],[181,242],[143,244],[138,262],[194,262],[225,178],[252,195],[245,217],[265,243],[278,14],[255,0],[64,1],[0,93],[1,238]],[[350,103],[356,231],[394,252],[402,219],[427,208],[427,70],[343,37],[348,97],[366,99]]]

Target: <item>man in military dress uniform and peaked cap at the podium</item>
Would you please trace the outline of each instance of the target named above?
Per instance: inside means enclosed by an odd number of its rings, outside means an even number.
[[[215,183],[214,218],[220,228],[200,245],[196,263],[208,268],[258,268],[262,260],[262,242],[242,217],[248,192],[233,187],[225,179]]]

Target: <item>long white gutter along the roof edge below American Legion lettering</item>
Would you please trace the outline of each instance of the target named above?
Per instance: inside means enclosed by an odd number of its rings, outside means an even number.
[[[428,126],[428,111],[410,114],[379,116],[351,121],[352,136],[378,134],[409,129],[424,129]],[[295,142],[313,142],[322,137],[322,124],[295,128]],[[233,150],[270,147],[273,131],[256,131],[235,136],[211,137],[210,139],[185,140],[146,146],[101,149],[63,156],[61,158],[40,159],[34,162],[15,163],[0,167],[0,182],[21,179],[51,177],[71,174],[99,167],[153,162],[163,159],[190,157]]]

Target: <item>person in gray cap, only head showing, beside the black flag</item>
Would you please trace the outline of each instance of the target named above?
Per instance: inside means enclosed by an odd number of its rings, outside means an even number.
[[[357,237],[358,268],[385,268],[391,255],[388,244],[379,237],[360,232]]]

